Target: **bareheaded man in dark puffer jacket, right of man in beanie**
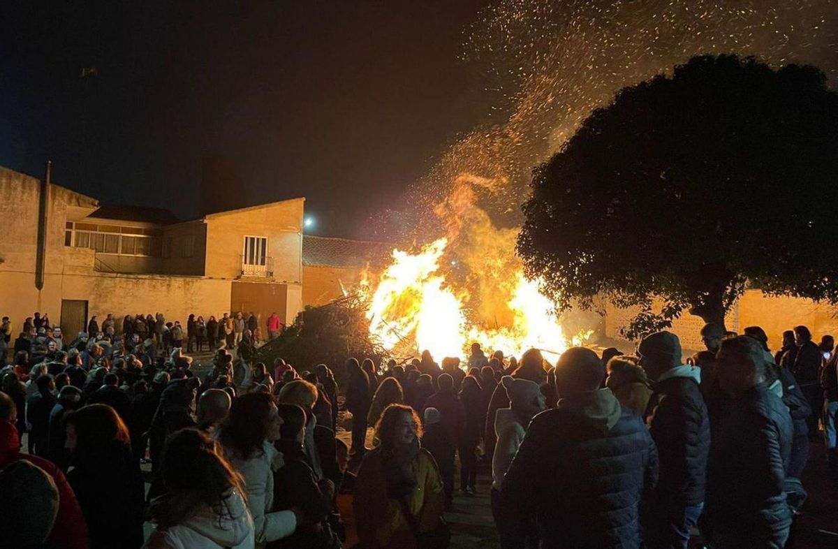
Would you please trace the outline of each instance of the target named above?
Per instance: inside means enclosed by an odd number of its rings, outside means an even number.
[[[713,426],[700,521],[713,547],[783,547],[789,538],[784,464],[792,422],[783,401],[768,391],[765,371],[756,339],[722,342],[718,381],[727,402]]]

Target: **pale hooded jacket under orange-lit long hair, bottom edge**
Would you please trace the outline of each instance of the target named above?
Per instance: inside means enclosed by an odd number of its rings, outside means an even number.
[[[241,494],[233,490],[227,498],[229,516],[219,516],[204,506],[188,521],[165,530],[156,529],[145,549],[251,549],[253,519]]]

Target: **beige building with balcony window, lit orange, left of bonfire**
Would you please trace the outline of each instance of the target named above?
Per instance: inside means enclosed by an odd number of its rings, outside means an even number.
[[[305,199],[177,222],[165,210],[98,200],[0,168],[0,314],[17,331],[34,311],[68,337],[96,315],[277,312],[303,308]],[[168,215],[166,215],[168,214]]]

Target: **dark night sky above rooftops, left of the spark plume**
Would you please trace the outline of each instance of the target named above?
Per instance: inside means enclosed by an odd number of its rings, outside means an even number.
[[[320,234],[365,236],[487,117],[460,60],[485,3],[3,3],[0,165],[189,218],[224,155],[237,202],[305,196]]]

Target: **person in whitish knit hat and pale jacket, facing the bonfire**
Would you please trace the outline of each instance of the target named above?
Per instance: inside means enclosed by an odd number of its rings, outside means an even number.
[[[494,417],[494,431],[497,443],[492,455],[492,490],[491,505],[494,524],[498,528],[498,536],[502,547],[514,543],[510,536],[517,531],[507,526],[507,511],[504,510],[504,499],[500,496],[503,488],[504,476],[510,468],[512,458],[518,452],[520,443],[524,440],[526,427],[536,414],[546,409],[545,396],[539,390],[538,384],[524,379],[515,379],[510,375],[501,378],[501,386],[510,399],[509,408],[500,408]],[[532,543],[531,543],[532,544]]]

